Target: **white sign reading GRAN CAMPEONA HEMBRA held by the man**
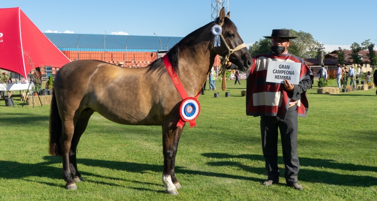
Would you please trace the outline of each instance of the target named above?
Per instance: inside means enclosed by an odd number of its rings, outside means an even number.
[[[301,63],[268,61],[266,82],[299,84]]]

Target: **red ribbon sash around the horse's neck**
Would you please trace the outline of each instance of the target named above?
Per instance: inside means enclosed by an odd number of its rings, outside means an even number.
[[[165,54],[165,56],[162,57],[162,61],[164,62],[166,70],[169,73],[169,76],[170,76],[171,80],[173,81],[174,86],[177,89],[179,95],[182,97],[183,100],[186,99],[187,97],[189,97],[187,95],[186,91],[184,90],[182,84],[180,83],[178,75],[175,73],[175,70],[170,63],[170,59],[167,56],[167,54]],[[201,91],[199,91],[198,95],[195,96],[196,99],[198,99],[200,92]],[[179,119],[179,121],[177,123],[177,127],[179,126],[180,128],[182,128],[183,124],[184,124],[184,122],[181,119]],[[197,126],[195,121],[190,122],[190,128],[193,128],[193,126]]]

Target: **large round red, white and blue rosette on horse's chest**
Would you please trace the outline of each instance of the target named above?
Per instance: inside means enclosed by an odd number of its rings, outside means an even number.
[[[198,99],[195,97],[187,97],[186,99],[182,100],[179,107],[179,115],[180,120],[177,124],[180,128],[182,128],[185,122],[190,122],[190,128],[193,126],[197,126],[195,120],[198,118],[200,114],[200,103]]]

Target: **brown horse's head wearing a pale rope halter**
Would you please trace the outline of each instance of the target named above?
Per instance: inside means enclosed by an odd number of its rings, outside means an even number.
[[[222,57],[229,55],[230,62],[237,65],[241,71],[247,71],[252,64],[249,50],[238,34],[236,26],[229,18],[230,12],[225,16],[224,8],[221,9],[220,16],[215,21],[222,28],[221,42],[220,46],[214,47],[214,51]]]

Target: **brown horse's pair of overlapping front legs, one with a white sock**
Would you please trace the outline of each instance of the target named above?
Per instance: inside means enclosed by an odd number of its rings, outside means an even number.
[[[183,126],[184,128],[184,126]],[[178,194],[176,189],[181,186],[175,177],[175,155],[177,153],[178,142],[183,129],[176,127],[176,124],[169,123],[162,126],[162,148],[164,155],[164,168],[162,172],[162,183],[165,192]]]

